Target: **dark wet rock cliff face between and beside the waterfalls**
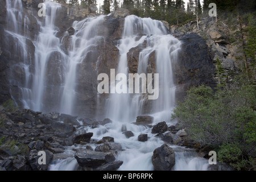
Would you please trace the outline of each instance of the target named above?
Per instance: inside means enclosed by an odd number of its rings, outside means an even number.
[[[44,19],[36,16],[38,12],[38,4],[42,0],[30,1],[24,0],[23,3],[23,14],[28,18],[27,26],[27,52],[29,53],[28,59],[31,62],[31,73],[34,71],[34,60],[35,60],[35,44],[34,41],[40,32],[40,23]],[[6,9],[4,8],[5,1],[1,1],[0,9],[0,34],[2,40],[4,38],[4,30],[6,27]],[[72,24],[75,20],[82,20],[86,17],[95,16],[95,9],[80,9],[79,7],[71,7],[60,5],[56,14],[55,26],[56,36],[61,42],[61,50],[68,55],[72,47],[72,35],[75,34],[75,29]],[[83,115],[87,117],[95,117],[101,115],[105,109],[105,100],[108,96],[102,95],[98,98],[97,94],[97,75],[99,73],[106,73],[110,75],[110,69],[117,68],[119,60],[119,50],[116,47],[117,41],[121,39],[123,32],[123,23],[125,16],[129,15],[127,11],[116,11],[113,15],[105,16],[100,26],[97,28],[97,34],[102,36],[102,41],[97,42],[95,46],[85,57],[84,61],[81,62],[77,67],[77,94],[76,94],[76,115]],[[207,20],[208,21],[208,20]],[[209,23],[209,22],[208,22]],[[204,26],[207,22],[201,22],[200,25]],[[23,24],[24,26],[24,24]],[[192,27],[189,25],[187,27]],[[25,29],[23,27],[23,29]],[[189,29],[191,30],[191,29]],[[189,32],[188,30],[188,32]],[[194,28],[192,28],[194,30]],[[183,97],[185,91],[191,86],[198,86],[206,84],[214,87],[216,85],[216,79],[214,75],[216,72],[214,61],[216,61],[216,55],[222,60],[224,68],[228,70],[234,69],[234,63],[231,59],[232,52],[229,53],[225,49],[225,38],[209,31],[209,39],[205,40],[200,36],[201,32],[191,32],[191,34],[185,34],[187,29],[179,29],[177,27],[171,27],[170,31],[182,43],[182,48],[178,52],[179,61],[174,65],[175,72],[175,84],[178,86],[177,96]],[[205,31],[202,31],[205,32]],[[23,34],[24,32],[22,32]],[[199,35],[196,35],[199,34]],[[202,33],[203,34],[203,33]],[[139,35],[138,39],[143,36]],[[1,53],[0,53],[0,103],[5,102],[11,96],[14,98],[17,104],[22,105],[20,101],[20,90],[19,87],[24,85],[24,69],[20,67],[14,67],[19,63],[23,63],[23,58],[20,56],[20,52],[11,52],[15,48],[15,39],[9,38],[9,42],[1,42]],[[128,67],[130,73],[136,73],[138,70],[139,52],[146,46],[146,43],[140,44],[138,47],[131,48],[127,53]],[[225,51],[226,50],[226,51]],[[55,100],[58,97],[58,93],[51,92],[51,89],[56,85],[63,84],[60,79],[57,79],[58,72],[56,72],[57,60],[61,55],[53,53],[51,61],[47,65],[48,76],[46,80],[49,85],[46,86],[49,96],[44,97],[44,102],[47,105],[47,112],[56,110],[56,104],[59,101]],[[86,60],[86,61],[85,61]],[[64,69],[64,68],[58,68]],[[152,52],[148,62],[148,72],[155,72],[155,53]],[[51,96],[50,96],[51,94]],[[53,95],[52,95],[53,94]],[[56,94],[56,96],[55,96]],[[54,97],[53,97],[54,96]],[[57,103],[58,102],[58,103]],[[150,103],[145,104],[146,110]],[[97,108],[96,108],[97,107]],[[96,111],[97,109],[97,111]]]

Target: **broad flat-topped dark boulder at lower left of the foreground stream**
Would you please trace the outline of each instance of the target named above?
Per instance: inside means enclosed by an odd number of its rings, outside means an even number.
[[[114,162],[112,153],[96,152],[90,150],[78,150],[75,154],[77,163],[82,167],[97,168],[106,163]]]

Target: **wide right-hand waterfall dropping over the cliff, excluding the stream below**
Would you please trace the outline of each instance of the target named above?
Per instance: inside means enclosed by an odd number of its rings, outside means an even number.
[[[139,35],[141,36],[138,39]],[[147,74],[149,56],[155,53],[156,73],[159,73],[159,98],[152,103],[155,120],[170,121],[171,110],[175,104],[175,85],[172,64],[177,61],[177,51],[181,42],[167,33],[164,24],[151,18],[131,15],[125,19],[122,39],[117,45],[120,59],[117,73],[128,75],[127,53],[146,41],[147,45],[139,54],[138,73]],[[106,108],[106,117],[114,121],[134,122],[143,113],[143,95],[111,94]]]

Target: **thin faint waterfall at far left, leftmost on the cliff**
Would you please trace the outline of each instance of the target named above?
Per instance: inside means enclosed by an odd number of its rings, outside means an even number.
[[[6,47],[11,51],[10,57],[12,65],[10,67],[9,81],[13,88],[10,89],[13,97],[13,89],[19,89],[19,102],[22,102],[24,108],[30,107],[31,101],[31,64],[32,55],[28,52],[28,26],[29,20],[23,15],[23,7],[21,0],[6,0],[7,25],[5,28]],[[12,41],[10,41],[12,40]],[[14,42],[14,44],[10,44]],[[32,42],[31,42],[32,43]],[[13,55],[19,55],[15,57]],[[19,79],[15,79],[19,76]],[[16,103],[17,104],[17,103]]]

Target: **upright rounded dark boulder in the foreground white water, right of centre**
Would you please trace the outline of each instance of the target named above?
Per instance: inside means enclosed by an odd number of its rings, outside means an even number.
[[[175,165],[174,150],[163,144],[154,150],[151,160],[156,171],[171,171]]]

